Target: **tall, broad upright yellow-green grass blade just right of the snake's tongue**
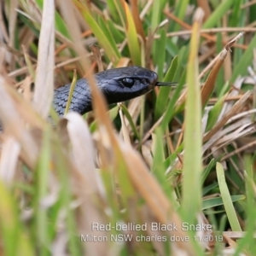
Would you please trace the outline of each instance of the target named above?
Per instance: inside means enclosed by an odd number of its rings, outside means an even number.
[[[198,47],[200,21],[195,20],[187,69],[188,93],[185,107],[183,159],[183,216],[190,224],[201,209],[201,89],[198,81]],[[193,188],[193,197],[191,197]]]

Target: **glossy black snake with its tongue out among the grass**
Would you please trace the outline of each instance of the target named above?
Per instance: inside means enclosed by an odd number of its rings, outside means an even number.
[[[96,83],[102,90],[108,104],[125,102],[153,90],[154,86],[169,85],[158,82],[158,75],[143,67],[119,67],[96,73]],[[55,90],[53,105],[63,115],[67,105],[70,84]],[[86,79],[79,79],[73,91],[69,111],[84,114],[92,109],[90,85]]]

